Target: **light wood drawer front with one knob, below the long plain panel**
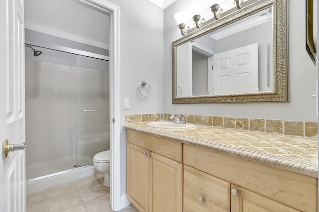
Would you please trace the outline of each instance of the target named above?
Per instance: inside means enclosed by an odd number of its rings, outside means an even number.
[[[184,212],[230,212],[230,183],[184,165]]]

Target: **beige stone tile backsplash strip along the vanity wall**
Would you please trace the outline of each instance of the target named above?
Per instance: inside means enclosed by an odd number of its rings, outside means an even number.
[[[125,123],[169,120],[171,113],[134,114],[126,115]],[[183,116],[185,114],[177,114]],[[189,115],[187,123],[233,129],[280,133],[304,137],[318,136],[318,123],[308,121],[272,120],[263,118],[240,118],[223,116]]]

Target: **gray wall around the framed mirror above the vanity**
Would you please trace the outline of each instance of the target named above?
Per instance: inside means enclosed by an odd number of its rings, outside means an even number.
[[[171,42],[182,37],[173,15],[186,10],[193,0],[176,0],[164,10],[164,111],[177,114],[200,114],[232,117],[317,121],[317,71],[305,49],[305,1],[289,4],[289,93],[290,103],[269,104],[171,104]]]

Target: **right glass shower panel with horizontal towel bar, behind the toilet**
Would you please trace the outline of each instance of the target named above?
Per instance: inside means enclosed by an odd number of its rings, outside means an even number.
[[[77,55],[77,166],[110,149],[109,61]]]

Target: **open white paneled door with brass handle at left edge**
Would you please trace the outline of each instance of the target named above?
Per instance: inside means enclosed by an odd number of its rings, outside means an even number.
[[[23,143],[24,0],[0,0],[0,144]],[[0,211],[25,212],[25,150],[0,157]]]

